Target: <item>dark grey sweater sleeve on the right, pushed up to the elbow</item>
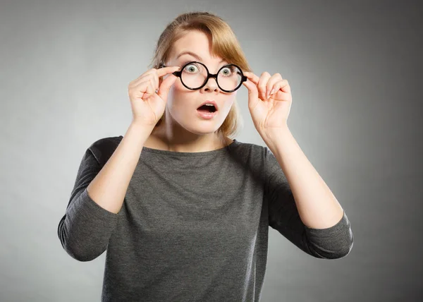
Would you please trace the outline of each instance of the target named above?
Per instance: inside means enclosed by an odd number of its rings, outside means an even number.
[[[283,170],[269,148],[264,149],[264,197],[268,203],[269,226],[313,257],[336,259],[348,255],[353,248],[353,232],[345,212],[332,227],[311,229],[305,226]]]

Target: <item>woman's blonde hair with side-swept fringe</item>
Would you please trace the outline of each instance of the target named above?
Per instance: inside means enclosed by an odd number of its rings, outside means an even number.
[[[190,30],[204,32],[211,39],[212,54],[221,57],[231,64],[240,66],[242,71],[251,71],[247,59],[245,59],[245,54],[240,47],[240,43],[228,23],[219,16],[200,11],[183,13],[171,23],[168,23],[157,41],[157,47],[154,50],[154,58],[152,59],[150,68],[160,68],[161,64],[165,64],[171,53],[173,43]],[[164,117],[165,114],[161,116],[156,126],[164,122]],[[235,138],[235,135],[238,134],[238,131],[242,127],[243,119],[235,99],[228,116],[226,116],[225,121],[223,121],[216,132],[221,140],[224,141],[226,136],[228,138]]]

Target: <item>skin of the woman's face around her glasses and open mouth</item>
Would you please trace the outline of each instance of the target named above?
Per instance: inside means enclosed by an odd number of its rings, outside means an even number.
[[[212,56],[209,38],[203,32],[192,30],[173,44],[166,66],[183,67],[190,61],[198,61],[217,73],[221,66],[231,64],[220,57]],[[189,67],[187,67],[189,68]],[[168,93],[166,110],[171,122],[176,122],[187,131],[196,134],[213,133],[226,119],[235,100],[235,92],[223,92],[214,78],[209,78],[199,90],[189,90],[178,78]],[[197,110],[204,102],[216,102],[217,110],[212,119],[205,119]],[[166,119],[168,118],[166,116]]]

